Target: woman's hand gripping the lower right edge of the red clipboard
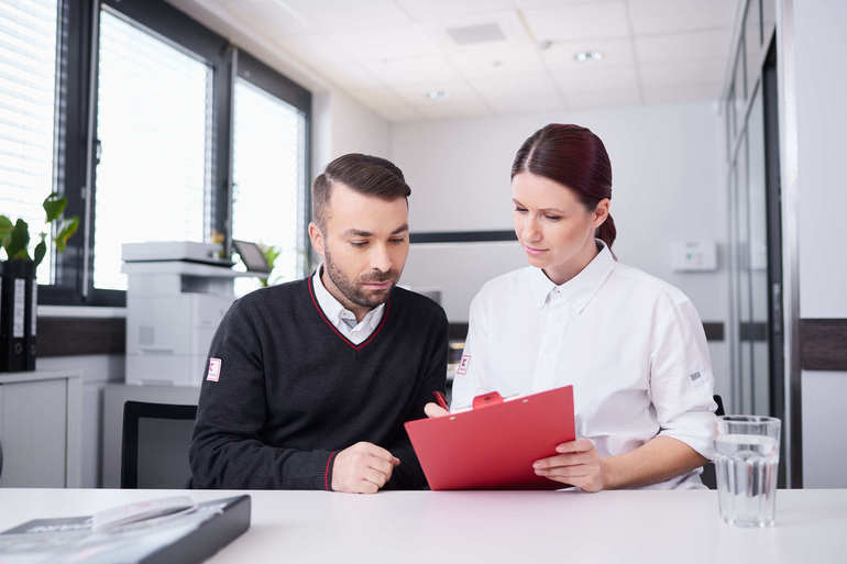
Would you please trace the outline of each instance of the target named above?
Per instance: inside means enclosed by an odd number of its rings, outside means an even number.
[[[594,443],[580,439],[556,447],[556,456],[532,463],[536,474],[583,491],[600,491],[606,487],[606,468]]]

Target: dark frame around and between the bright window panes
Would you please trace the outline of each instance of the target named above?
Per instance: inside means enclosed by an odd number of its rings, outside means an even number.
[[[40,285],[38,303],[111,306],[127,303],[124,290],[94,287],[95,187],[97,159],[97,77],[101,10],[141,25],[208,64],[212,69],[211,228],[231,248],[232,111],[235,76],[267,90],[302,112],[305,124],[304,232],[309,218],[311,176],[311,92],[241,51],[224,37],[164,0],[59,0],[57,18],[57,98],[54,146],[56,189],[68,199],[66,215],[79,229],[64,254],[55,253],[54,284]],[[304,273],[306,274],[306,273]]]

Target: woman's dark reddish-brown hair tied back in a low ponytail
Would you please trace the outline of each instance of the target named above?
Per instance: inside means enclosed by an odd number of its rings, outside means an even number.
[[[520,145],[512,164],[512,177],[524,172],[543,176],[566,186],[588,209],[612,198],[612,164],[603,142],[591,130],[579,125],[551,123],[535,132]],[[596,236],[610,248],[615,242],[612,214],[597,228]]]

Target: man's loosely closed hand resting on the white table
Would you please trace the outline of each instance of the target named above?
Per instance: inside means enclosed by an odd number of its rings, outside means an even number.
[[[349,494],[376,494],[399,463],[399,458],[381,446],[355,443],[336,455],[332,489]]]

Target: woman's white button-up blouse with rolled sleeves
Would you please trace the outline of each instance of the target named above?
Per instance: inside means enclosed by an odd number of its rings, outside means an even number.
[[[659,435],[712,458],[714,376],[694,306],[605,246],[561,286],[531,266],[490,280],[469,322],[452,409],[487,391],[506,398],[572,384],[576,436],[601,456]],[[647,487],[702,488],[700,473]]]

